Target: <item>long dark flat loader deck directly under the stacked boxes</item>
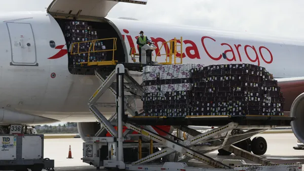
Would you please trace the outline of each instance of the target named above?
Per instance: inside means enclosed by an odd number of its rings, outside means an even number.
[[[230,122],[239,125],[276,125],[290,126],[290,122],[295,117],[289,116],[186,116],[186,117],[166,117],[166,116],[124,116],[124,122],[140,125],[193,125],[193,126],[223,126]]]

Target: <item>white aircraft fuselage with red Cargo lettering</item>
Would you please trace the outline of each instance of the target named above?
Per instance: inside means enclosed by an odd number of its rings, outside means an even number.
[[[127,53],[136,45],[138,32],[143,30],[159,48],[161,41],[182,36],[183,63],[251,63],[265,67],[278,78],[304,76],[302,41],[136,20],[108,20],[125,39]],[[20,12],[0,14],[0,21],[0,107],[54,121],[95,121],[88,100],[100,82],[93,75],[73,75],[68,71],[66,46],[51,48],[50,41],[56,47],[66,44],[56,20],[47,12]],[[48,59],[58,52],[64,55]],[[221,55],[223,52],[226,59]],[[164,61],[164,57],[158,61]],[[52,73],[56,74],[54,78]],[[108,93],[102,101],[113,102],[114,97]],[[101,112],[108,117],[115,110],[103,108]]]

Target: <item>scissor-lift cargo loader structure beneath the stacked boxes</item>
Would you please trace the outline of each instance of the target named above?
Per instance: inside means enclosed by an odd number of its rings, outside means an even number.
[[[89,109],[101,124],[95,137],[87,137],[83,144],[83,162],[105,168],[118,168],[126,170],[301,170],[301,163],[276,164],[258,155],[238,148],[233,144],[249,139],[250,137],[274,128],[275,126],[289,125],[292,117],[277,116],[200,116],[200,117],[145,117],[136,111],[136,99],[141,99],[143,88],[132,78],[128,68],[118,64],[116,69],[106,74],[95,70],[95,75],[103,81],[101,86],[89,100]],[[116,80],[116,82],[115,82]],[[117,98],[117,113],[108,120],[98,111],[98,106],[106,104],[96,103],[107,90]],[[128,95],[127,95],[128,94]],[[132,115],[126,116],[125,109]],[[118,129],[112,125],[117,122]],[[123,133],[123,125],[128,129]],[[153,127],[154,125],[154,127]],[[157,125],[172,125],[177,130],[177,137],[166,132],[167,136],[158,134]],[[208,132],[201,133],[188,127],[188,125],[219,126]],[[247,130],[247,131],[245,131]],[[138,135],[130,135],[133,131]],[[190,137],[182,139],[180,132]],[[112,137],[101,137],[108,132]],[[136,139],[137,137],[138,139]],[[173,138],[172,138],[173,137]],[[138,160],[131,163],[124,162],[124,148],[137,147]],[[252,141],[266,143],[264,139]],[[244,141],[246,142],[246,141]],[[108,146],[106,156],[102,156],[102,147]],[[149,147],[149,155],[141,157],[142,146]],[[154,152],[154,147],[162,148]],[[247,164],[244,160],[217,161],[206,154],[223,149],[234,153],[257,164]],[[172,157],[173,156],[173,157]],[[171,157],[171,158],[170,158]],[[155,163],[156,159],[166,159]],[[196,159],[207,166],[191,167],[188,162]],[[168,162],[169,161],[169,162]]]

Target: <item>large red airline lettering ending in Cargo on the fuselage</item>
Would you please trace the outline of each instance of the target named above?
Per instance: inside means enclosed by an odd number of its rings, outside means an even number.
[[[134,48],[136,45],[136,40],[138,36],[135,36],[132,38],[131,35],[129,35],[129,31],[127,29],[123,29],[123,39],[126,41],[125,37],[128,40],[128,43],[130,45],[130,48]],[[150,39],[155,42],[155,46],[157,49],[155,50],[155,55],[159,54],[160,46],[163,44],[163,42],[168,41],[161,37],[153,37],[151,36]],[[180,41],[178,41],[180,43]],[[220,48],[223,53],[226,54],[226,60],[229,62],[237,61],[237,62],[243,62],[244,58],[247,58],[252,63],[255,63],[256,65],[260,65],[260,63],[265,64],[271,64],[274,60],[272,52],[264,46],[252,46],[252,45],[241,45],[241,44],[234,44],[230,45],[226,42],[218,42],[215,38],[212,38],[210,36],[203,36],[201,38],[202,43],[202,49],[204,50],[204,53],[206,56],[208,56],[210,59],[214,61],[218,61],[223,58],[222,54],[216,54],[210,51],[210,47]],[[164,45],[165,47],[162,48],[162,51],[160,54],[169,54],[169,46],[167,44]],[[192,40],[183,40],[183,54],[182,57],[188,57],[189,59],[201,59],[199,48],[197,47],[196,43]],[[137,46],[138,48],[138,46]],[[132,54],[135,52],[138,53],[137,48],[135,48],[135,51],[132,51]],[[160,56],[160,55],[158,55]],[[177,57],[180,57],[180,53],[177,53]]]

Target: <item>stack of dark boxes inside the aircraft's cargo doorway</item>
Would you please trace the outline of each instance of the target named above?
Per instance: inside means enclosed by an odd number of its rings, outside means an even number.
[[[88,52],[93,51],[92,42],[90,40],[98,39],[97,30],[92,29],[85,21],[69,21],[65,22],[65,40],[67,42],[67,48],[74,54],[70,55],[73,66],[80,66],[81,62],[88,62]],[[89,41],[89,42],[83,42]],[[80,44],[74,44],[72,49],[71,46],[74,42],[81,42]],[[91,49],[90,49],[91,47]],[[102,41],[96,41],[94,50],[104,50],[105,46]],[[69,53],[70,53],[69,51]],[[90,62],[101,61],[106,58],[104,52],[93,52],[90,53]]]

